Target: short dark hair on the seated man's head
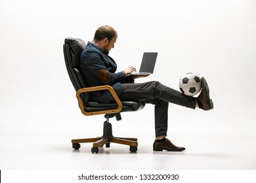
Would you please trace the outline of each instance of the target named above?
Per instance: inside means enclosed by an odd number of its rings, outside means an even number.
[[[102,41],[105,38],[108,38],[109,41],[113,39],[113,37],[117,36],[116,30],[110,25],[103,25],[96,29],[95,32],[95,41]]]

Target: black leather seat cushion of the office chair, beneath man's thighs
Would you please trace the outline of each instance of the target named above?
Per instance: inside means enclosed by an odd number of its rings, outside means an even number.
[[[135,101],[122,101],[122,109],[121,112],[127,112],[127,111],[136,111],[144,108],[144,104],[137,103]],[[117,108],[117,103],[98,103],[98,102],[88,102],[85,110],[88,112],[95,112],[99,110],[109,110]]]

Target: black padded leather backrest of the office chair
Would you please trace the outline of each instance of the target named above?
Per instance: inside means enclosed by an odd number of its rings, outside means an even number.
[[[83,78],[81,72],[78,69],[80,55],[81,52],[83,52],[83,48],[85,48],[85,46],[85,41],[72,37],[66,38],[63,44],[66,69],[68,71],[68,75],[70,76],[70,80],[75,88],[75,91],[79,90],[80,88],[87,87],[85,79]],[[85,103],[87,103],[89,101],[90,95],[89,93],[83,93],[81,97],[83,97],[83,100],[85,101]]]

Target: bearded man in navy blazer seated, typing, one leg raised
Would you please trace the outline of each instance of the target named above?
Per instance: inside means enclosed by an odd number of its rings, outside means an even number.
[[[134,79],[137,77],[132,76],[131,73],[136,71],[135,67],[127,67],[116,73],[116,62],[108,56],[110,50],[114,48],[116,40],[116,30],[109,25],[104,25],[96,30],[93,41],[88,42],[85,46],[81,53],[79,67],[87,84],[89,86],[108,84],[114,88],[121,101],[137,101],[155,105],[156,139],[153,150],[177,152],[185,150],[184,147],[175,146],[165,138],[167,136],[168,105],[175,103],[188,108],[213,109],[205,78],[201,78],[202,91],[197,98],[184,95],[156,81],[134,83]],[[104,90],[94,92],[93,100],[110,103],[114,99],[108,90]]]

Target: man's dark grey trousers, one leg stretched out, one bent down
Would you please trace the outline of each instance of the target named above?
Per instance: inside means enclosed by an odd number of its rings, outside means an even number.
[[[183,95],[160,82],[121,84],[121,101],[137,101],[155,105],[156,137],[167,136],[168,105],[174,103],[188,108],[196,108],[196,98]]]

